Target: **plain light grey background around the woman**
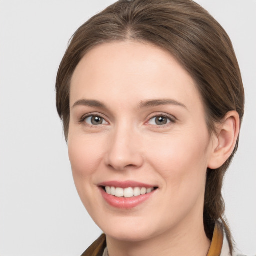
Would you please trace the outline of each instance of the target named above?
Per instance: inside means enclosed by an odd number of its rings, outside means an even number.
[[[80,255],[101,233],[75,190],[55,110],[57,68],[73,32],[114,0],[0,0],[0,255]],[[246,107],[225,178],[238,248],[256,253],[256,0],[197,0],[230,35]]]

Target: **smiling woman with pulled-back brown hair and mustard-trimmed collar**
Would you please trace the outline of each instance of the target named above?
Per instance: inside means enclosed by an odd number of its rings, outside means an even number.
[[[191,0],[121,0],[61,61],[57,110],[79,196],[103,230],[83,255],[236,255],[221,187],[244,91],[229,37]]]

